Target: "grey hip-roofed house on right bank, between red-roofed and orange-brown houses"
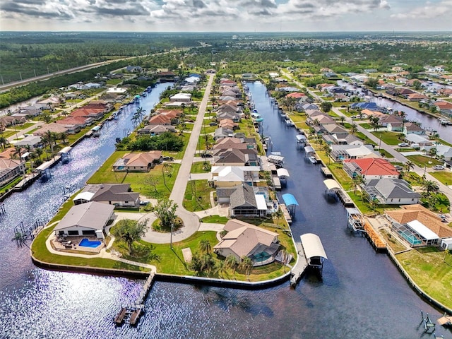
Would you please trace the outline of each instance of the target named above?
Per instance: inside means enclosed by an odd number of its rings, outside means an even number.
[[[371,179],[362,189],[372,200],[384,205],[408,205],[419,203],[421,195],[412,191],[403,179]]]

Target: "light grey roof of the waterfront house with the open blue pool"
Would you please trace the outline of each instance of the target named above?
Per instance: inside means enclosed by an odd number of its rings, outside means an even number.
[[[107,220],[111,217],[113,210],[114,206],[107,203],[90,202],[72,206],[54,230],[64,230],[74,226],[102,230]]]

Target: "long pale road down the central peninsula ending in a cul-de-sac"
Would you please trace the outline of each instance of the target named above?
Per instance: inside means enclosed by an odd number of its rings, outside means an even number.
[[[208,84],[206,86],[206,92],[204,93],[203,100],[201,101],[201,105],[199,106],[198,115],[196,116],[193,130],[191,131],[189,144],[186,147],[184,158],[182,159],[181,167],[179,168],[179,172],[177,174],[176,182],[174,182],[172,192],[169,195],[169,199],[174,201],[174,203],[177,203],[177,216],[184,220],[184,227],[182,227],[182,229],[178,230],[177,232],[173,232],[173,242],[179,242],[190,237],[191,234],[194,234],[194,232],[198,231],[200,225],[198,216],[195,213],[186,210],[182,203],[184,202],[186,185],[188,184],[190,179],[191,164],[194,160],[196,145],[198,145],[198,138],[201,133],[201,127],[203,126],[204,114],[206,113],[206,107],[210,96],[210,89],[212,88],[213,78],[213,74],[209,76]],[[153,232],[152,230],[148,231],[145,234],[145,237],[143,237],[145,241],[153,242],[155,244],[167,244],[169,243],[170,238],[171,235],[168,233]]]

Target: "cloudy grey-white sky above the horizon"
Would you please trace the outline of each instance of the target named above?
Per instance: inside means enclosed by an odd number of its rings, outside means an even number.
[[[452,30],[452,0],[1,0],[1,31]]]

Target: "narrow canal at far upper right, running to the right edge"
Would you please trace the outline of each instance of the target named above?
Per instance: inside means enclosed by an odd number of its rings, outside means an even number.
[[[447,141],[448,143],[452,143],[452,126],[441,125],[439,123],[439,120],[432,117],[431,115],[423,114],[417,111],[416,109],[412,109],[411,107],[402,105],[394,100],[386,99],[385,97],[376,97],[370,91],[366,90],[364,92],[362,88],[355,88],[353,85],[345,81],[338,81],[338,85],[346,88],[347,90],[354,90],[361,93],[362,95],[364,94],[368,95],[370,97],[370,101],[375,102],[376,105],[378,105],[381,108],[391,107],[393,111],[405,112],[406,114],[405,119],[411,121],[420,121],[423,129],[425,129],[426,131],[437,131],[441,139]]]

